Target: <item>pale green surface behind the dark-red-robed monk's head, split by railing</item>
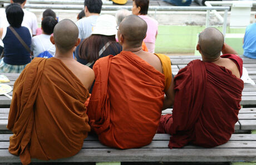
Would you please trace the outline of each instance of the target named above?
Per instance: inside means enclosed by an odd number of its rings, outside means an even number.
[[[156,53],[194,53],[198,34],[204,30],[199,25],[159,25],[156,39]],[[216,27],[222,31],[222,27]],[[227,33],[244,33],[245,28],[230,29]],[[225,42],[243,54],[243,39],[226,39]]]

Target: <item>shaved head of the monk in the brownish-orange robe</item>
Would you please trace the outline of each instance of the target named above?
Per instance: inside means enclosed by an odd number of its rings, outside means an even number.
[[[53,30],[55,45],[61,53],[71,50],[78,39],[78,28],[70,19],[63,19]]]

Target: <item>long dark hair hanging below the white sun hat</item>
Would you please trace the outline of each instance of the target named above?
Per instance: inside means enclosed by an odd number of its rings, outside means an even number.
[[[99,51],[107,42],[111,42],[107,50],[114,49],[116,54],[118,54],[119,49],[116,47],[117,43],[115,35],[101,35],[101,34],[92,34],[90,37],[84,39],[80,45],[78,55],[82,59],[86,59],[89,63],[99,59]]]

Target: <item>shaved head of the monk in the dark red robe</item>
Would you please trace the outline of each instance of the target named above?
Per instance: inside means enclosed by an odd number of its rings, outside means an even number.
[[[224,36],[216,28],[206,28],[199,34],[198,44],[206,58],[215,59],[220,56],[220,51],[224,44]]]

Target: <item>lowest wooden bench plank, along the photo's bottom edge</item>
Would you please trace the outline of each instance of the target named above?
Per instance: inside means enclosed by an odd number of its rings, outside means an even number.
[[[32,162],[253,162],[256,149],[82,149],[75,156]],[[0,150],[2,163],[19,163],[19,157]]]

